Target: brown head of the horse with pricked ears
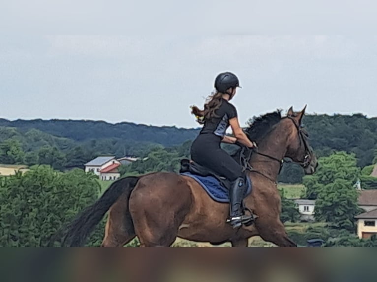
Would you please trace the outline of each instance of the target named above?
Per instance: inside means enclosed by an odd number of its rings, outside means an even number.
[[[306,106],[301,112],[293,112],[291,107],[287,116],[284,117],[286,119],[284,121],[285,130],[289,132],[285,157],[303,167],[306,174],[313,174],[318,163],[313,148],[308,141],[309,134],[301,125],[305,109]]]

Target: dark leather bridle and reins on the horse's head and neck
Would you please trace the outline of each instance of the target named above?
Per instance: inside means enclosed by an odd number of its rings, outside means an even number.
[[[299,136],[299,140],[300,140],[300,145],[303,143],[304,144],[304,147],[305,147],[305,157],[304,157],[304,161],[302,162],[294,162],[293,160],[284,160],[283,159],[278,159],[278,158],[275,158],[273,156],[270,156],[270,155],[266,155],[266,154],[263,154],[263,153],[260,153],[258,152],[256,149],[251,149],[249,150],[248,152],[248,156],[246,156],[245,158],[242,158],[241,157],[241,165],[242,165],[242,170],[243,172],[245,172],[245,170],[249,170],[251,172],[255,172],[255,173],[258,173],[264,177],[266,177],[267,179],[271,180],[272,182],[276,182],[275,180],[273,180],[271,177],[265,175],[264,173],[262,172],[259,172],[257,170],[254,170],[251,165],[250,165],[250,159],[251,159],[251,155],[253,153],[257,154],[257,155],[260,155],[260,156],[263,156],[263,157],[266,157],[266,158],[269,158],[273,161],[276,161],[280,164],[280,168],[279,168],[279,173],[282,171],[282,168],[283,168],[283,164],[284,163],[293,163],[293,164],[297,164],[297,165],[300,165],[302,168],[306,169],[311,161],[312,161],[312,154],[313,154],[313,149],[310,147],[309,145],[309,142],[308,142],[308,138],[309,138],[309,134],[308,132],[302,127],[300,126],[297,121],[290,115],[288,115],[286,118],[289,118],[293,124],[295,125],[296,129],[297,129],[297,134]],[[243,148],[243,150],[246,149],[246,148]],[[241,151],[241,156],[243,155],[243,153],[245,153],[245,151]],[[278,173],[278,174],[279,174]]]

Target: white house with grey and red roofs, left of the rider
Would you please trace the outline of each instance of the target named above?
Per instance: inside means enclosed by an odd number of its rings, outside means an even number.
[[[121,177],[118,168],[121,166],[115,156],[100,156],[86,163],[85,172],[93,171],[101,180],[116,180]]]

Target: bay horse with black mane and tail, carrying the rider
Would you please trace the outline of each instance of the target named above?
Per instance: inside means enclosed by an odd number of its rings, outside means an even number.
[[[228,203],[213,200],[192,178],[174,172],[153,172],[114,182],[93,205],[66,228],[63,246],[79,247],[101,221],[109,216],[101,247],[122,247],[136,236],[142,247],[170,247],[177,237],[195,242],[247,247],[248,239],[259,235],[279,247],[296,247],[280,220],[281,197],[277,177],[283,159],[313,174],[317,160],[302,128],[305,114],[268,113],[254,120],[246,130],[258,149],[251,155],[251,194],[245,207],[257,216],[251,226],[233,229],[227,224]]]

